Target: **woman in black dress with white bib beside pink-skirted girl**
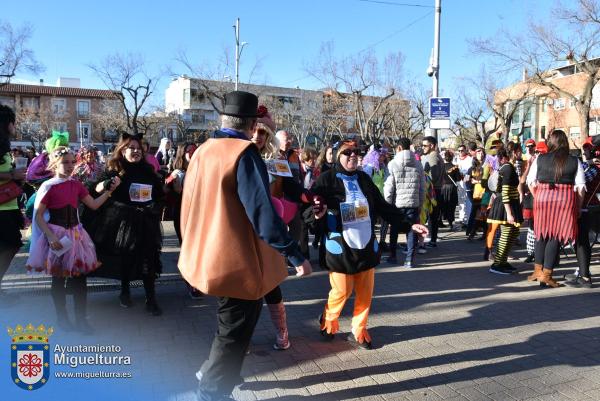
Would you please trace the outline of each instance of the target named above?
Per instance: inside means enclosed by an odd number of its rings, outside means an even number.
[[[103,263],[95,275],[121,280],[119,300],[124,308],[132,306],[129,282],[142,279],[146,310],[158,316],[162,310],[156,302],[154,282],[162,271],[164,190],[144,156],[141,137],[123,134],[95,189],[102,193],[115,176],[120,177],[121,185],[96,213],[86,210],[83,220]]]

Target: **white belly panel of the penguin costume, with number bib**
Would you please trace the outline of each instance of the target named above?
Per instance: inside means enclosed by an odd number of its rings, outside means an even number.
[[[346,189],[346,202],[340,203],[342,235],[350,248],[364,249],[371,241],[369,203],[358,186],[356,176],[337,174]]]

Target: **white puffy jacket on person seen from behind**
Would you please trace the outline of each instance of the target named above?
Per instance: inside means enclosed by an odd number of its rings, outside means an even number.
[[[389,176],[383,186],[388,203],[402,208],[418,208],[425,201],[425,173],[410,150],[397,153],[388,164]]]

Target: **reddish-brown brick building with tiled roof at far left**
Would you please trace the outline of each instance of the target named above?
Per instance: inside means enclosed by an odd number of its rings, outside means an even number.
[[[115,141],[116,134],[96,124],[95,115],[118,113],[120,94],[81,88],[77,78],[60,78],[56,86],[6,84],[0,86],[0,104],[17,113],[17,142],[40,143],[53,130],[69,132],[72,143]]]

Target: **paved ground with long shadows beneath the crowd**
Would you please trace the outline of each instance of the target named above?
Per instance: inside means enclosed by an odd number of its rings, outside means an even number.
[[[52,336],[52,344],[115,344],[131,356],[133,378],[126,383],[52,378],[26,393],[0,377],[0,389],[14,399],[193,400],[195,372],[206,359],[215,331],[215,302],[191,300],[179,280],[177,248],[165,229],[166,274],[158,285],[164,315],[143,309],[143,289],[135,306],[119,307],[114,282],[97,281],[89,296],[96,335]],[[479,241],[442,232],[437,249],[418,255],[415,269],[382,264],[375,277],[369,327],[375,349],[356,349],[344,341],[350,330],[352,301],[331,341],[319,335],[317,316],[327,297],[325,272],[290,277],[282,290],[288,310],[292,348],[274,351],[274,330],[265,308],[244,364],[246,383],[237,400],[600,400],[600,290],[541,289],[525,280],[532,265],[514,262],[517,276],[488,272]],[[523,256],[523,251],[516,255]],[[3,288],[20,296],[0,300],[4,326],[54,313],[47,281],[20,274],[26,255],[14,261]],[[563,258],[556,276],[570,272],[573,257]],[[592,273],[600,273],[598,255]],[[32,289],[32,285],[33,288]],[[5,337],[8,344],[8,337]],[[6,351],[6,350],[3,350]],[[0,353],[0,357],[6,357]],[[2,359],[2,363],[5,363]],[[57,370],[58,367],[52,366]],[[64,369],[63,369],[64,370]],[[6,372],[6,370],[4,370]],[[99,384],[100,383],[100,384]],[[116,394],[116,397],[114,396]],[[25,397],[27,395],[27,397]],[[39,398],[35,398],[35,397]],[[71,397],[71,398],[69,398]]]

